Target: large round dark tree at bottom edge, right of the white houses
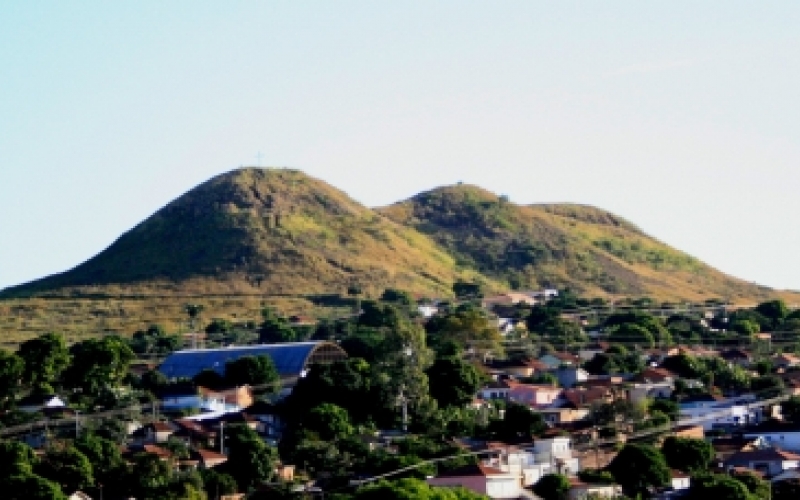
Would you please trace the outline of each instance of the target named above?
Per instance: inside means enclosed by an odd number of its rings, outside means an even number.
[[[649,487],[665,486],[670,481],[664,455],[648,445],[625,445],[607,470],[629,496],[645,494]]]

